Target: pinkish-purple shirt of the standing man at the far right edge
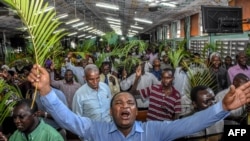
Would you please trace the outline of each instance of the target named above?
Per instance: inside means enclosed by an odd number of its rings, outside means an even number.
[[[230,82],[233,83],[233,79],[234,77],[239,74],[239,73],[243,73],[245,74],[247,77],[250,78],[250,67],[247,66],[247,69],[242,69],[238,64],[237,65],[234,65],[232,67],[230,67],[228,69],[228,76],[229,76],[229,79],[230,79]]]

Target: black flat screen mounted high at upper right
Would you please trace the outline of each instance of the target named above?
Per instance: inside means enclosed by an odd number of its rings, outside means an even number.
[[[242,8],[201,6],[204,33],[241,33]]]

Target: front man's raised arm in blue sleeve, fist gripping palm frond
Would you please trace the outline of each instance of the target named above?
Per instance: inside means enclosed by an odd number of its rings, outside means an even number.
[[[37,87],[41,95],[41,103],[62,128],[80,137],[90,135],[89,132],[92,127],[92,121],[89,118],[76,115],[59,100],[58,96],[50,87],[49,73],[45,68],[34,65],[28,76],[28,80],[33,86]]]

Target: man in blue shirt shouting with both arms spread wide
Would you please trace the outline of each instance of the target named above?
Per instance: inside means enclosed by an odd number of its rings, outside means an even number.
[[[71,112],[51,89],[45,68],[34,65],[28,80],[37,87],[43,105],[63,128],[93,141],[172,141],[211,126],[227,117],[230,110],[250,102],[248,82],[238,88],[231,86],[222,101],[190,117],[174,121],[139,122],[135,120],[138,112],[135,98],[131,93],[120,92],[111,100],[113,122],[107,123]]]

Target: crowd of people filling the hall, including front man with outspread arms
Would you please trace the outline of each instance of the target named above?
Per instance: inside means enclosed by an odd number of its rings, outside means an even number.
[[[211,53],[203,65],[212,83],[191,87],[188,72],[200,64],[183,58],[173,68],[166,51],[138,55],[142,61],[132,72],[115,68],[111,58],[100,67],[88,57],[76,64],[72,53],[59,78],[53,60],[46,66],[2,65],[1,79],[20,89],[23,100],[14,106],[12,121],[6,120],[14,122],[14,129],[2,126],[0,140],[66,141],[71,132],[82,141],[220,141],[224,125],[246,124],[250,68],[244,52],[235,62]],[[188,68],[183,65],[187,60],[193,63]],[[145,121],[138,121],[142,110],[147,111]]]

